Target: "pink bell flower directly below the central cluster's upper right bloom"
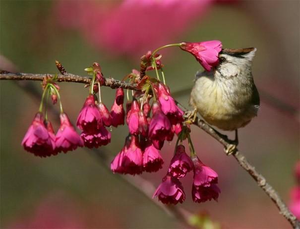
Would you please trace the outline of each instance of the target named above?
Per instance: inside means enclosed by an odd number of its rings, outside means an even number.
[[[163,141],[171,131],[171,123],[168,117],[161,111],[160,105],[155,102],[152,106],[153,117],[149,125],[149,137]]]

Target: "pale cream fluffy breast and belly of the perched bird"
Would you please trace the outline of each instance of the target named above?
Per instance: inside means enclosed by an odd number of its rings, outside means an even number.
[[[224,130],[244,126],[257,112],[246,99],[250,92],[241,90],[234,81],[231,84],[200,77],[196,80],[190,97],[190,104],[205,121]]]

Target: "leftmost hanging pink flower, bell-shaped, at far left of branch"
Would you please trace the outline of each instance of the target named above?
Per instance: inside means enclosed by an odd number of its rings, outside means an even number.
[[[43,114],[38,112],[29,126],[21,143],[24,149],[35,156],[51,156],[55,150],[55,143],[44,124]]]

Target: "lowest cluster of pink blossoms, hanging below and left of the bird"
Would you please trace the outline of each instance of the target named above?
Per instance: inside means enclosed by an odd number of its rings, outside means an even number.
[[[164,204],[182,203],[185,200],[185,193],[179,179],[190,171],[194,172],[193,201],[201,203],[211,199],[217,200],[220,193],[217,186],[218,174],[210,167],[205,166],[196,155],[190,158],[185,153],[183,145],[177,146],[168,173],[156,189],[153,197],[157,196]]]

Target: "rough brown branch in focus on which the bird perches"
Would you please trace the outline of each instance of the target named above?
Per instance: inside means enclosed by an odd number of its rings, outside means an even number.
[[[27,74],[27,73],[0,73],[0,80],[43,80],[45,76],[48,74]],[[49,75],[48,75],[49,76]],[[50,75],[54,76],[54,75]],[[90,84],[91,79],[88,77],[77,76],[73,74],[66,75],[58,75],[59,82],[77,82],[77,83],[85,83]],[[115,80],[113,78],[105,78],[104,86],[108,86],[111,88],[124,88],[131,90],[139,90],[135,85],[128,84],[119,80]],[[184,109],[187,111],[186,109]],[[203,120],[199,119],[193,123],[215,138],[218,142],[220,142],[225,148],[228,148],[231,143],[226,135],[221,135],[216,130],[211,128],[208,124],[206,124]],[[237,160],[239,165],[251,175],[251,177],[256,181],[259,187],[263,189],[263,191],[269,196],[269,198],[275,203],[277,208],[279,209],[280,214],[282,214],[292,225],[294,229],[300,229],[300,222],[297,218],[291,213],[291,211],[287,208],[285,203],[282,201],[281,197],[277,193],[277,191],[267,183],[264,176],[258,173],[254,166],[252,166],[245,158],[243,154],[241,154],[238,149],[232,154],[232,156]],[[145,193],[145,192],[144,192]],[[146,194],[146,193],[145,193]],[[147,195],[147,194],[146,194]],[[175,208],[170,208],[175,209]],[[177,212],[178,213],[178,212]]]

